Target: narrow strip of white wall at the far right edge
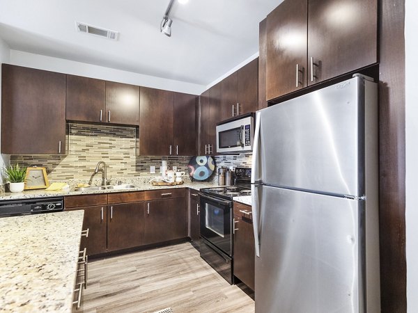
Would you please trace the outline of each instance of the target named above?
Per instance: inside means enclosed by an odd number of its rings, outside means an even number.
[[[418,2],[405,1],[406,273],[408,312],[418,312]]]

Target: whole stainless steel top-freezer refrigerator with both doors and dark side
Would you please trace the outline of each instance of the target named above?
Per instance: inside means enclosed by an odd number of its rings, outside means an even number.
[[[380,312],[377,84],[256,114],[256,313]]]

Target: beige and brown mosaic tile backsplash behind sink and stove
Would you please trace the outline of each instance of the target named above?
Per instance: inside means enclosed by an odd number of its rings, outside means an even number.
[[[100,178],[102,172],[94,175],[99,161],[106,162],[108,178],[150,176],[150,166],[155,166],[157,175],[162,160],[167,160],[170,168],[187,172],[191,157],[137,156],[139,143],[138,129],[114,125],[69,124],[67,135],[68,155],[12,155],[10,163],[22,166],[44,166],[48,179],[62,181],[68,179]],[[251,166],[251,155],[215,157],[217,166]],[[216,179],[217,170],[211,179]]]

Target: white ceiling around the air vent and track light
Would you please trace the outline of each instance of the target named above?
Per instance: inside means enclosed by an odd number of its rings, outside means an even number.
[[[169,0],[0,0],[10,49],[208,85],[258,51],[258,23],[283,0],[173,4],[171,38],[160,33]],[[119,40],[75,22],[119,31]]]

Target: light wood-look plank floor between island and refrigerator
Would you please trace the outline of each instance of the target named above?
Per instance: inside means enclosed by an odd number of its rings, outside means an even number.
[[[254,313],[254,300],[190,243],[89,262],[83,301],[77,312]]]

